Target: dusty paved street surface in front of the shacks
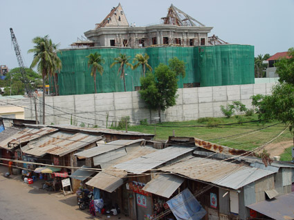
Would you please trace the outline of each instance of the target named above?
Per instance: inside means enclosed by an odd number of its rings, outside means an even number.
[[[92,217],[89,208],[80,210],[75,194],[64,196],[63,192],[50,192],[42,189],[45,181],[37,180],[33,184],[24,183],[21,175],[3,177],[8,168],[0,166],[0,219],[98,219],[130,220],[124,214],[107,216],[97,212]],[[27,215],[26,215],[27,214]]]

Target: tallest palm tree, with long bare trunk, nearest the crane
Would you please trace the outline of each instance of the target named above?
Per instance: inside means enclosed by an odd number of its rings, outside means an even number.
[[[49,36],[45,37],[35,37],[33,39],[33,43],[35,46],[33,49],[28,50],[28,53],[34,53],[34,59],[32,64],[30,64],[30,68],[34,68],[37,66],[37,70],[42,74],[43,80],[43,124],[45,124],[45,78],[50,70],[50,66],[53,65],[52,58],[54,54],[52,54],[52,50],[50,49],[50,39]]]

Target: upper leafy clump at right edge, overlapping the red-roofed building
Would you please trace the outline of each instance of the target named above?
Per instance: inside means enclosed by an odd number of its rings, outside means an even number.
[[[279,59],[275,63],[276,72],[279,74],[280,83],[294,84],[294,48],[288,50],[288,57]]]

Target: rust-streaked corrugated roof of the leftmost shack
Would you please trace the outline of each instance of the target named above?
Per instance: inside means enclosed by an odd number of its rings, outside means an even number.
[[[16,134],[13,134],[8,139],[1,141],[0,147],[10,150],[11,148],[8,148],[8,143],[10,143],[11,146],[12,145],[19,146],[19,141],[21,143],[26,143],[28,141],[37,139],[39,137],[42,137],[45,134],[50,134],[55,131],[57,131],[57,129],[55,128],[40,128],[40,129],[25,128],[24,130],[21,130],[17,132]]]

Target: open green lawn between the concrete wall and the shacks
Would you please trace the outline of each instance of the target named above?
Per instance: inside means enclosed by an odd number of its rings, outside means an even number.
[[[275,123],[278,123],[277,121],[260,123],[257,120],[257,115],[253,114],[250,117],[242,116],[241,120],[236,117],[229,119],[227,117],[217,119],[205,118],[194,121],[131,126],[128,130],[149,134],[155,134],[156,130],[156,140],[166,140],[175,131],[175,135],[178,137],[196,137],[205,141],[211,141],[212,143],[218,143],[222,146],[252,150],[277,137],[284,129],[284,124],[282,123],[273,126]],[[274,143],[292,139],[291,133],[286,131]]]

